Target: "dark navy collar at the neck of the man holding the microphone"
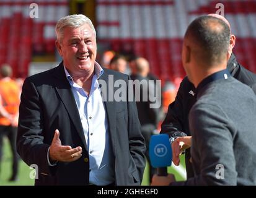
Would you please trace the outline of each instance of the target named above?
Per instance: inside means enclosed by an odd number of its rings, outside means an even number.
[[[223,69],[221,71],[215,72],[214,74],[209,75],[205,79],[203,79],[200,84],[196,87],[196,93],[200,92],[200,90],[205,87],[205,85],[210,84],[215,80],[227,79],[230,76],[230,73],[227,69]]]

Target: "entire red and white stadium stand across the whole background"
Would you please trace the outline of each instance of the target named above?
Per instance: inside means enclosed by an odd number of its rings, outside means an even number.
[[[231,0],[95,0],[98,44],[148,59],[162,80],[183,77],[182,38],[198,15],[224,5],[225,17],[237,37],[234,52],[241,64],[256,72],[256,1]],[[30,18],[30,4],[38,18]],[[69,14],[68,0],[1,0],[0,64],[11,64],[15,77],[28,74],[32,54],[55,53],[56,21]]]

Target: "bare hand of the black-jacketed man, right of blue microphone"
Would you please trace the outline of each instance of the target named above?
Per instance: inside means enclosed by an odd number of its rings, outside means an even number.
[[[192,136],[177,137],[174,142],[172,142],[172,161],[174,165],[179,166],[180,164],[180,153],[183,150],[191,147]]]

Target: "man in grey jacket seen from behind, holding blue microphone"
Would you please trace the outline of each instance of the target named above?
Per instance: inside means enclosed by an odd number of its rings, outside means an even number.
[[[182,62],[197,93],[189,113],[195,176],[177,183],[173,175],[154,176],[152,184],[256,184],[256,98],[226,69],[230,35],[223,20],[208,15],[188,26]]]

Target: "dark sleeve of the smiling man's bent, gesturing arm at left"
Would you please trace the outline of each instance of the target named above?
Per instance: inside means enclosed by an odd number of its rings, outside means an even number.
[[[42,111],[35,85],[26,79],[20,96],[17,152],[27,165],[37,165],[39,172],[51,174],[56,167],[48,165],[50,145],[43,143]]]

